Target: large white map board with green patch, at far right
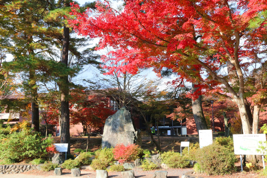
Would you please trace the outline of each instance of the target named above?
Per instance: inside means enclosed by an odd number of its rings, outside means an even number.
[[[257,152],[259,141],[266,141],[265,134],[237,134],[233,135],[235,155],[263,155]]]

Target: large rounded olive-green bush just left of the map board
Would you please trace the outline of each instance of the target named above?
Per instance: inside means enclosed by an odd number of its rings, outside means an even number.
[[[207,174],[225,175],[236,171],[234,152],[216,142],[198,149],[196,156],[198,164]]]

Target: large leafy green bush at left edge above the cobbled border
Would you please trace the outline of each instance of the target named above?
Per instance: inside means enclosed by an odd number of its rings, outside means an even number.
[[[0,159],[10,162],[25,159],[40,158],[46,155],[46,147],[50,146],[47,140],[43,140],[38,132],[24,130],[13,132],[9,135],[1,135]]]

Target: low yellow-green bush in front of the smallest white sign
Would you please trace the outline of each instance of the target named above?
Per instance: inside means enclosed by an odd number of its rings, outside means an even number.
[[[189,161],[186,161],[185,157],[174,151],[164,152],[160,157],[161,162],[167,164],[170,168],[185,168],[189,165]]]

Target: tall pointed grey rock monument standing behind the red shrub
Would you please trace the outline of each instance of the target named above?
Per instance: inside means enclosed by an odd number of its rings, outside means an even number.
[[[115,147],[117,144],[138,144],[142,146],[140,130],[133,127],[131,113],[124,107],[109,116],[105,122],[102,149]]]

